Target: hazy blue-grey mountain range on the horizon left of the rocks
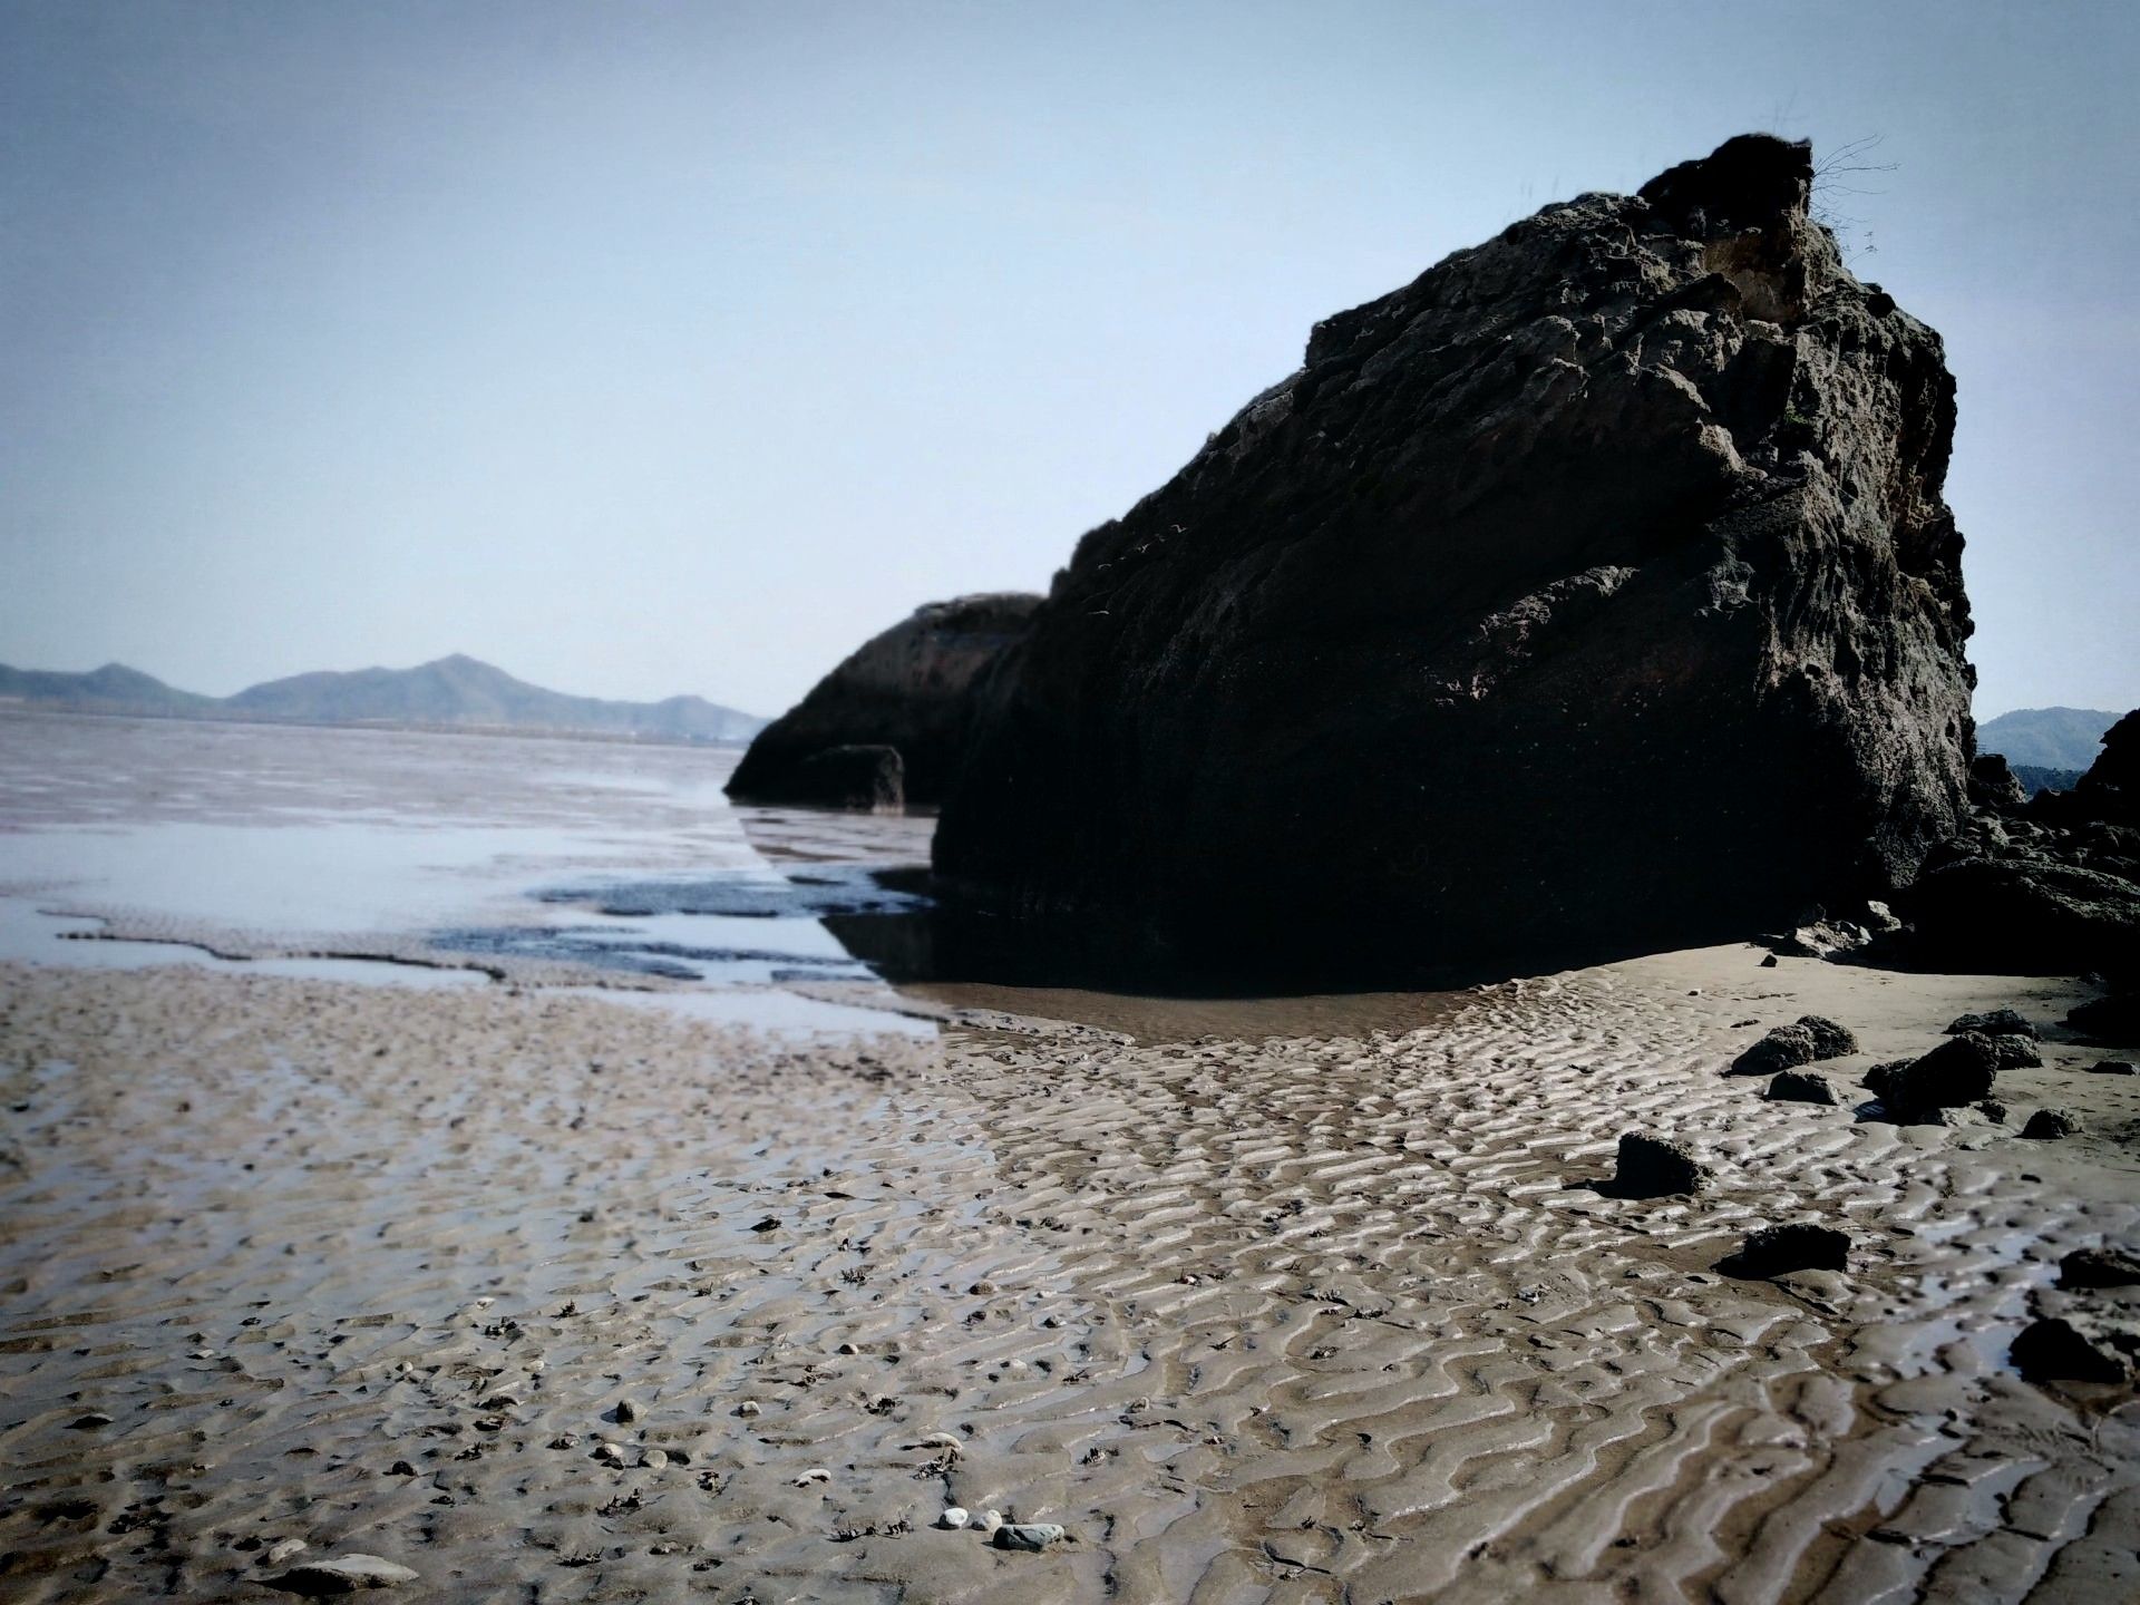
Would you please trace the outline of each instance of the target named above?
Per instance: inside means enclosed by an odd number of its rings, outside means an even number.
[[[304,725],[398,725],[524,730],[642,740],[743,743],[766,721],[704,698],[603,702],[546,691],[473,657],[441,657],[413,670],[293,674],[233,698],[178,691],[124,663],[88,674],[49,674],[0,663],[0,706],[56,713],[131,713],[165,719],[253,719]]]

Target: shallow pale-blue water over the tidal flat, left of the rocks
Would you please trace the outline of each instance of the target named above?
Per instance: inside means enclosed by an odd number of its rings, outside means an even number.
[[[809,867],[854,856],[856,820],[753,811],[783,843],[788,862],[770,862],[721,796],[734,762],[0,713],[0,957],[636,987],[777,1029],[924,1029],[820,918],[903,901]],[[912,852],[907,822],[886,826],[886,850]],[[918,839],[927,854],[927,822]],[[798,982],[837,982],[845,1002]]]

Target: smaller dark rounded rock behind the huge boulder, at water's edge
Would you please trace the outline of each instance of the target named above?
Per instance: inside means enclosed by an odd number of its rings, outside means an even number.
[[[826,785],[813,764],[835,747],[890,747],[905,800],[933,807],[965,740],[974,676],[1014,642],[1040,597],[997,593],[933,601],[873,636],[751,743],[728,781],[745,802],[856,807],[852,788]]]

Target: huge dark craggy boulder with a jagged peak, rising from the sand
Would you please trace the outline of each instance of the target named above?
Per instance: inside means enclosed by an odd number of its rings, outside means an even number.
[[[1969,764],[1954,381],[1808,184],[1740,137],[1316,325],[987,676],[946,882],[1355,978],[1907,882]]]

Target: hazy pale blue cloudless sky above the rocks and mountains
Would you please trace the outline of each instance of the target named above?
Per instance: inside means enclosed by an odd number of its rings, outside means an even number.
[[[2136,71],[2125,0],[0,0],[0,661],[777,713],[1318,317],[1776,128],[1894,163],[1980,715],[2127,708]]]

